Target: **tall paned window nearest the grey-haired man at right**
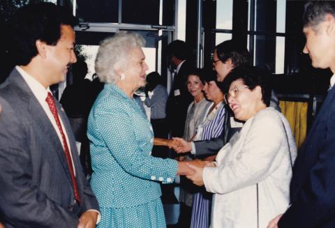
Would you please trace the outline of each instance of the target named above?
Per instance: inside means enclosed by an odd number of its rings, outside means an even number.
[[[248,1],[248,50],[255,66],[283,74],[286,1]],[[276,17],[274,17],[276,15]]]

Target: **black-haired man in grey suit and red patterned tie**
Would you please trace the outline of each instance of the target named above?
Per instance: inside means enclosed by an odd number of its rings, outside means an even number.
[[[66,114],[49,86],[64,81],[75,18],[24,6],[11,29],[17,66],[0,86],[0,218],[8,227],[93,228],[100,213]]]

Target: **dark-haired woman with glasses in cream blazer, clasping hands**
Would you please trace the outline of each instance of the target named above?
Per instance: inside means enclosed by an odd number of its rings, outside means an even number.
[[[211,227],[266,227],[289,205],[297,156],[290,123],[269,107],[269,75],[241,66],[226,77],[225,101],[244,126],[209,167],[190,165],[193,183],[213,192]]]

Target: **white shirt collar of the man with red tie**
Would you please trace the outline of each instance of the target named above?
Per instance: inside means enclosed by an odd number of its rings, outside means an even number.
[[[20,66],[15,66],[15,69],[22,75],[25,82],[27,82],[29,88],[34,93],[34,96],[37,98],[39,102],[45,102],[45,98],[47,98],[47,93],[51,92],[50,88],[45,87],[40,84],[34,77],[29,75],[26,71],[24,71]]]

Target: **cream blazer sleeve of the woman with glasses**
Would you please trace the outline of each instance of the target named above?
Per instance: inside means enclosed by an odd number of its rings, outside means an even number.
[[[208,192],[224,194],[254,185],[280,165],[283,153],[278,152],[282,151],[285,134],[280,117],[263,112],[250,121],[248,132],[244,132],[246,136],[235,142],[241,148],[234,152],[234,158],[227,156],[228,160],[221,161],[218,167],[204,168],[204,185]],[[219,153],[230,153],[227,148],[225,146]]]

